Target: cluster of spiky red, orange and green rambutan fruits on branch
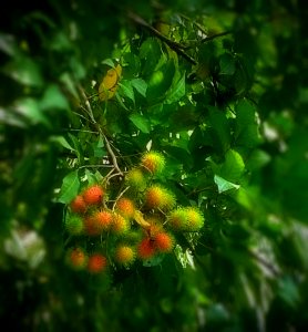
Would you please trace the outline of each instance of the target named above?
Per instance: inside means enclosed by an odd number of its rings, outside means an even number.
[[[68,204],[63,225],[70,243],[66,261],[73,269],[97,274],[155,264],[156,258],[174,255],[179,234],[203,228],[202,211],[178,205],[160,180],[165,166],[162,153],[146,152],[124,176],[88,185]]]

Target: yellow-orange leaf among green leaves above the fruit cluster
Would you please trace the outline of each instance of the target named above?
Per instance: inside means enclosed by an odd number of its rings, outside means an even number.
[[[99,86],[99,98],[103,102],[114,96],[117,83],[122,74],[122,66],[117,64],[115,68],[110,69],[102,83]]]

